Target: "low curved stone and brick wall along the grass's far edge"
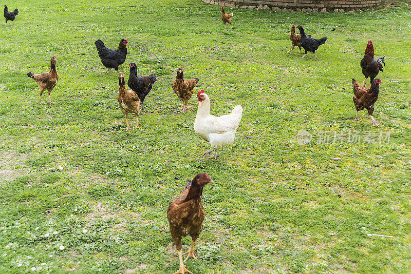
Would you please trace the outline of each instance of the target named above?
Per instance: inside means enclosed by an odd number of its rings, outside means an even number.
[[[205,3],[231,8],[270,9],[284,11],[353,11],[376,7],[382,0],[202,0]]]

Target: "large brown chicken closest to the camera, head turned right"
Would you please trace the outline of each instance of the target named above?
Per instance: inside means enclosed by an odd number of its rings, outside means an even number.
[[[180,261],[180,268],[174,274],[184,274],[185,272],[192,273],[185,268],[182,258],[183,255],[187,254],[187,258],[185,258],[184,262],[190,257],[197,260],[193,253],[194,243],[200,235],[202,222],[206,216],[201,204],[201,194],[203,186],[208,183],[214,182],[207,173],[197,174],[192,182],[187,179],[184,190],[170,203],[169,208],[167,209],[170,233],[174,244],[176,245],[178,259]],[[187,252],[182,254],[181,237],[187,235],[191,236],[191,246]]]

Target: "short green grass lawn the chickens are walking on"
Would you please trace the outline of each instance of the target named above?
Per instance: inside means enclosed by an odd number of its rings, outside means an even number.
[[[233,29],[225,30],[220,7],[199,0],[7,5],[19,14],[0,35],[1,273],[176,271],[166,209],[199,172],[215,184],[202,195],[199,261],[186,264],[194,273],[411,272],[409,6],[227,8]],[[328,37],[316,59],[285,53],[290,24]],[[117,73],[104,73],[98,38],[110,48],[128,38],[126,80],[130,62],[158,75],[140,130],[125,131]],[[352,121],[351,78],[364,79],[368,38],[386,56],[374,112],[380,128],[366,111],[363,122]],[[56,105],[40,105],[26,74],[49,71],[53,55]],[[195,91],[206,90],[212,114],[244,107],[236,139],[217,161],[199,158],[210,145],[194,132],[197,101],[177,112],[178,67],[200,79]],[[310,144],[297,143],[300,129],[314,135]],[[349,143],[356,130],[363,139]],[[379,130],[390,132],[389,143],[364,142]],[[321,132],[328,143],[315,142]]]

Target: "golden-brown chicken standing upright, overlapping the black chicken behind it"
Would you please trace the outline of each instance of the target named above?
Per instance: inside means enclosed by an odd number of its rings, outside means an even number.
[[[127,128],[125,130],[130,129],[130,126],[128,125],[127,112],[134,113],[136,115],[136,126],[134,129],[139,128],[138,114],[140,110],[140,99],[136,92],[125,88],[124,74],[122,72],[119,73],[119,85],[120,88],[119,92],[117,92],[117,101],[119,101],[121,112],[123,112],[125,123],[127,124]]]

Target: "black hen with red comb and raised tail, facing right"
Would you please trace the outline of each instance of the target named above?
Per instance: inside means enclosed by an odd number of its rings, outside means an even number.
[[[100,39],[95,42],[101,63],[107,68],[107,73],[110,68],[119,71],[119,65],[122,65],[127,55],[127,38],[120,41],[118,49],[109,49],[104,46]]]

